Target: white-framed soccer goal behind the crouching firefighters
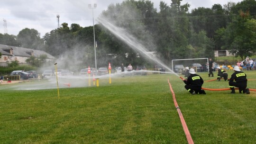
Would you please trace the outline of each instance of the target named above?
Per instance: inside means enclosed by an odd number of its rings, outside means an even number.
[[[183,72],[185,67],[194,68],[196,72],[208,72],[207,63],[209,63],[208,58],[176,59],[172,60],[172,68],[176,73]]]

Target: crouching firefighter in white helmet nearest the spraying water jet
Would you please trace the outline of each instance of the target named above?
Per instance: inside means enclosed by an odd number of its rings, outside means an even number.
[[[188,90],[191,94],[206,94],[204,90],[201,90],[203,79],[200,75],[196,74],[195,70],[191,68],[189,70],[191,74],[187,80],[182,79],[186,84],[185,89]]]

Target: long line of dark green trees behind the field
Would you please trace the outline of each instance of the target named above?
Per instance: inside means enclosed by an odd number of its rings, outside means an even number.
[[[125,0],[110,4],[101,17],[125,28],[149,51],[165,63],[173,59],[214,57],[214,50],[229,50],[241,59],[256,51],[256,1],[228,2],[224,6],[195,8],[181,5],[182,0],[164,1],[159,11],[150,0]],[[94,25],[97,43],[97,65],[121,63],[150,65],[108,31],[101,23]],[[66,64],[94,66],[93,27],[61,24],[42,38],[36,29],[22,29],[17,36],[0,34],[0,44],[43,50],[60,58],[68,56]]]

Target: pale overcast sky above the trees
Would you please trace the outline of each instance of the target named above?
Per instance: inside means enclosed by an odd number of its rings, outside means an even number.
[[[121,3],[124,0],[1,0],[0,2],[0,33],[4,34],[4,20],[6,20],[7,32],[9,35],[18,35],[24,28],[34,28],[41,37],[47,32],[58,27],[57,15],[60,16],[60,25],[64,22],[79,24],[81,27],[92,26],[92,9],[88,4],[97,8],[93,9],[94,24],[95,20],[103,10],[113,3]],[[161,0],[150,0],[154,3],[154,8],[159,9]],[[171,0],[162,0],[168,5]],[[191,9],[204,7],[211,8],[213,4],[227,4],[228,1],[240,2],[242,0],[183,0],[182,4],[189,3]]]

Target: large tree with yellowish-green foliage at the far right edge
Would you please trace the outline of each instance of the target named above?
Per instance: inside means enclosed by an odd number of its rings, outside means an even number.
[[[222,39],[232,54],[244,59],[256,52],[256,20],[252,19],[249,12],[240,11],[240,15],[230,23]]]

